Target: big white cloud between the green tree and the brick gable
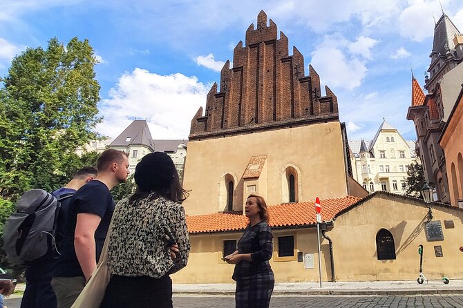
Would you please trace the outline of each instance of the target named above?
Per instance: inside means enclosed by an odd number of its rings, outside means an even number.
[[[135,68],[124,73],[109,98],[102,100],[104,122],[97,131],[117,137],[136,118],[147,119],[155,139],[187,138],[191,119],[205,106],[208,91],[194,76],[158,75]]]

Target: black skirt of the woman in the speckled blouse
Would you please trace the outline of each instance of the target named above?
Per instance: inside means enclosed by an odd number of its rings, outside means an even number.
[[[171,278],[111,276],[100,308],[116,307],[172,308]]]

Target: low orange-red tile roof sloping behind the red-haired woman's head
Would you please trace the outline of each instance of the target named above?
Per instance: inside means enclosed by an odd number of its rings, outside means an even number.
[[[321,200],[321,218],[330,221],[360,198],[346,196]],[[268,206],[270,227],[291,227],[315,224],[315,201],[283,203]],[[245,229],[247,218],[242,212],[211,213],[187,216],[189,233],[238,231]]]

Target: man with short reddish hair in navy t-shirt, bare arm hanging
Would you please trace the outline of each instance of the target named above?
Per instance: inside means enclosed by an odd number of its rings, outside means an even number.
[[[82,186],[69,202],[68,227],[52,280],[58,308],[73,305],[97,266],[115,207],[110,190],[129,175],[126,153],[104,151],[97,170],[95,180]]]

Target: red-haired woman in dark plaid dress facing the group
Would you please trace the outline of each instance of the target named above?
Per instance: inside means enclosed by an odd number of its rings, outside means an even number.
[[[236,264],[232,276],[236,280],[236,308],[268,308],[275,279],[269,263],[273,235],[267,204],[261,196],[249,195],[245,211],[249,224],[238,241],[238,250],[225,257],[227,263]]]

